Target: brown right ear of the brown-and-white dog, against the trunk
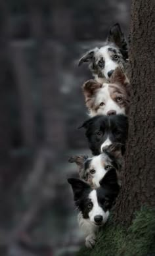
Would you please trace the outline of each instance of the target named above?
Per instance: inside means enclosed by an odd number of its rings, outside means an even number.
[[[111,84],[121,84],[122,86],[129,86],[129,80],[127,76],[123,73],[122,69],[116,68],[114,72],[112,73],[112,76],[110,78]]]

